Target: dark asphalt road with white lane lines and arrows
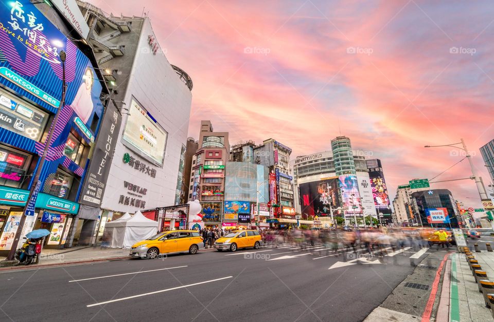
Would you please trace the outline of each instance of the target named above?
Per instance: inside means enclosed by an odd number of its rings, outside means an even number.
[[[0,320],[360,321],[436,252],[417,251],[345,261],[286,245],[7,271]]]

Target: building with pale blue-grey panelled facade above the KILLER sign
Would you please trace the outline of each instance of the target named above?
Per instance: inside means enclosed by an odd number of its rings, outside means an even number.
[[[225,228],[249,226],[251,214],[257,226],[269,227],[269,168],[249,162],[227,162],[225,167],[225,202],[222,225]],[[259,202],[259,216],[257,216]],[[253,223],[251,223],[252,226]]]

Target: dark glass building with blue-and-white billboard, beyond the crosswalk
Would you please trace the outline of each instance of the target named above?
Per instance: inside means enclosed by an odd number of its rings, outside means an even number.
[[[461,228],[458,225],[456,202],[447,189],[432,189],[412,193],[412,208],[419,222],[433,228]]]

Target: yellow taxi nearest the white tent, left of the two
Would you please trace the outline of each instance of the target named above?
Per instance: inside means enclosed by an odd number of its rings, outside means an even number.
[[[158,233],[132,245],[130,256],[154,259],[165,254],[196,254],[203,246],[202,237],[195,230],[174,230]]]

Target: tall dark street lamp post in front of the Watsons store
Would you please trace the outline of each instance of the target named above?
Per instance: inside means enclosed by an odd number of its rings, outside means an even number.
[[[19,226],[17,227],[17,231],[15,232],[15,237],[14,241],[12,243],[12,246],[10,248],[9,254],[7,255],[7,260],[13,260],[15,257],[15,251],[16,251],[16,245],[19,243],[19,239],[21,238],[22,230],[24,228],[24,223],[26,222],[26,212],[29,207],[29,201],[32,198],[32,195],[34,193],[34,190],[39,191],[39,187],[41,185],[40,180],[40,175],[41,175],[41,169],[43,168],[43,165],[45,163],[46,155],[48,154],[48,149],[50,147],[50,142],[51,142],[51,137],[53,136],[55,132],[55,127],[57,125],[58,118],[60,116],[60,110],[63,108],[65,105],[65,92],[67,89],[67,84],[65,84],[65,51],[60,51],[60,61],[62,62],[62,100],[60,101],[60,106],[55,113],[55,118],[53,119],[53,122],[51,123],[50,129],[48,130],[48,137],[46,138],[46,143],[45,147],[43,149],[43,154],[41,155],[40,161],[38,163],[38,167],[36,168],[36,173],[34,174],[34,178],[31,184],[31,188],[29,190],[29,197],[27,198],[26,205],[24,206],[24,211],[21,216],[21,220],[19,221]],[[33,214],[34,216],[34,214]]]

